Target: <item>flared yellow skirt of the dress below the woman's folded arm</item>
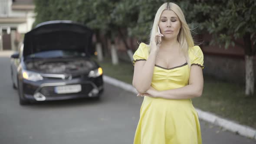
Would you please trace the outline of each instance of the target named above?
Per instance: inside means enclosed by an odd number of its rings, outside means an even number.
[[[201,144],[197,112],[190,100],[144,97],[134,144]]]

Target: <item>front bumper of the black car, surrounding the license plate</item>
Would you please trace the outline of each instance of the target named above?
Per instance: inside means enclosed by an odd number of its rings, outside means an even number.
[[[54,88],[63,85],[81,85],[81,91],[58,94]],[[103,92],[102,76],[91,79],[43,80],[31,82],[23,80],[23,97],[31,101],[53,101],[74,98],[98,97]]]

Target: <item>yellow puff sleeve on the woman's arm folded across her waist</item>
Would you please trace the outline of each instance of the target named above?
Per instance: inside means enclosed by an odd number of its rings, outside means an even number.
[[[199,46],[194,46],[192,49],[193,50],[192,50],[191,65],[198,65],[203,69],[204,65],[203,65],[203,52],[202,52],[202,50],[200,49]]]

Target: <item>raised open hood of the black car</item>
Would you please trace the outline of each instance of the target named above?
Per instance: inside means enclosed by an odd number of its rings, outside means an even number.
[[[90,54],[92,30],[69,20],[38,24],[24,36],[23,56],[48,50],[74,50]]]

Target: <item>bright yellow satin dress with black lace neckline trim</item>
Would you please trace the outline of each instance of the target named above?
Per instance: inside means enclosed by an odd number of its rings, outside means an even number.
[[[188,49],[191,65],[202,69],[203,52],[199,46]],[[141,43],[133,56],[133,64],[147,60],[149,46]],[[190,68],[187,63],[171,69],[155,65],[151,86],[159,91],[188,85]],[[191,99],[170,100],[144,97],[134,144],[201,144],[197,111]]]

